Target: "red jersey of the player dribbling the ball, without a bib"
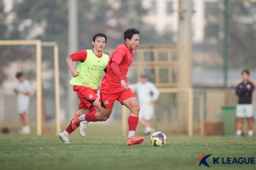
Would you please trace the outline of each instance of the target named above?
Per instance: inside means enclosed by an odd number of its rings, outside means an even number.
[[[120,73],[124,77],[124,81],[127,83],[126,75],[130,65],[132,64],[133,56],[133,51],[130,50],[125,43],[119,45],[110,57],[107,66],[108,71],[103,77],[102,84],[108,87],[122,87],[120,79],[118,79],[110,67],[113,61],[118,63]]]

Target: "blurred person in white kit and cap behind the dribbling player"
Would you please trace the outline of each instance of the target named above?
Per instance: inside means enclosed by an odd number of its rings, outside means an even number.
[[[129,87],[137,91],[140,105],[139,123],[145,128],[144,134],[149,135],[152,131],[150,121],[154,116],[154,101],[159,97],[159,90],[153,83],[148,81],[145,73],[142,73],[141,81],[134,85],[129,85]]]

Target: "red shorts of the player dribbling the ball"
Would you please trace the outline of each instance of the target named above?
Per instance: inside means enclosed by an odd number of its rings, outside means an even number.
[[[110,109],[114,107],[114,102],[118,100],[121,104],[122,101],[130,97],[136,97],[132,90],[128,87],[127,91],[123,91],[122,87],[109,87],[101,84],[100,87],[100,102],[101,107]]]

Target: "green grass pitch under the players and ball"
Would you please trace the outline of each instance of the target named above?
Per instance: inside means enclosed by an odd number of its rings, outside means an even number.
[[[104,127],[102,127],[104,128]],[[103,130],[103,129],[102,129]],[[64,144],[54,135],[0,134],[0,170],[255,170],[256,164],[213,164],[212,157],[256,157],[256,138],[167,136],[164,147],[153,147],[147,136],[140,145],[126,146],[126,137],[78,130]]]

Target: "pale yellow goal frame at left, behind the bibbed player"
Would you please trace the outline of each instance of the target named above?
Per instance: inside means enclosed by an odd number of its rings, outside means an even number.
[[[55,107],[56,107],[56,134],[60,132],[60,80],[58,44],[56,42],[42,42],[41,40],[0,40],[0,45],[35,45],[36,46],[36,133],[42,135],[42,46],[54,48],[55,74]]]

